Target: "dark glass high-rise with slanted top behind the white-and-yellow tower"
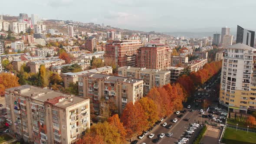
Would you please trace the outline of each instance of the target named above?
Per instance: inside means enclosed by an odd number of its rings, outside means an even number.
[[[247,46],[254,47],[254,36],[254,31],[243,29],[241,26],[237,25],[236,43],[243,43]]]

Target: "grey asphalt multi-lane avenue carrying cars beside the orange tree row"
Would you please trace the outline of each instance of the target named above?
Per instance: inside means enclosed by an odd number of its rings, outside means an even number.
[[[216,80],[217,77],[212,78],[211,80]],[[210,89],[208,90],[204,90],[204,89],[199,89],[197,92],[195,92],[195,94],[197,94],[198,92],[204,92],[204,93],[208,93],[209,96],[205,96],[205,99],[208,99],[210,101],[215,101],[212,102],[211,106],[217,106],[217,96],[213,95],[213,91],[215,92],[214,88],[217,82],[215,82],[215,84],[213,86],[210,87]],[[199,103],[198,107],[195,106],[194,98],[198,97],[199,95],[195,95],[195,96],[191,96],[190,98],[188,98],[187,103],[184,103],[184,109],[187,110],[187,112],[185,114],[180,113],[179,115],[184,115],[183,118],[177,118],[177,115],[174,113],[173,115],[171,115],[170,117],[167,117],[166,119],[164,119],[164,121],[161,122],[161,124],[158,124],[152,131],[150,131],[144,138],[142,138],[141,140],[138,139],[138,137],[136,138],[139,142],[138,144],[141,143],[146,143],[146,144],[154,144],[152,142],[152,140],[154,138],[159,137],[159,135],[161,133],[167,134],[169,132],[173,133],[172,137],[167,137],[165,136],[164,138],[161,138],[160,141],[158,141],[159,144],[177,144],[177,141],[181,139],[181,137],[183,137],[184,131],[186,131],[187,127],[189,126],[189,124],[194,123],[195,121],[201,121],[204,123],[204,121],[209,121],[208,118],[201,118],[201,114],[199,111],[197,111],[198,109],[201,109],[201,105]],[[194,109],[194,112],[190,112],[187,108],[187,105],[191,105],[190,109]],[[203,108],[202,108],[203,109]],[[173,123],[171,120],[177,118],[178,121],[176,123]],[[190,121],[184,121],[185,118],[190,118]],[[167,129],[164,128],[162,126],[162,124],[166,122],[167,125],[168,124],[173,124],[171,129]],[[187,144],[192,144],[194,139],[196,138],[197,134],[199,133],[200,128],[198,128],[195,133],[191,136],[189,142],[187,142]],[[149,134],[154,133],[154,137],[152,139],[148,138]]]

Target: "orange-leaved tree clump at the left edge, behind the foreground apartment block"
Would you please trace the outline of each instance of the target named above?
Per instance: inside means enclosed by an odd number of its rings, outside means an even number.
[[[13,88],[19,86],[19,78],[16,75],[10,73],[1,73],[0,74],[0,95],[4,95],[6,88]]]

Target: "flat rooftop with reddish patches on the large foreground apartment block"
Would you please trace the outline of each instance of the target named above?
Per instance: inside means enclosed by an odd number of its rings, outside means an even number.
[[[34,100],[51,103],[61,108],[69,108],[70,106],[79,104],[83,101],[89,101],[88,98],[56,92],[50,89],[39,88],[32,85],[21,85],[14,88],[8,88],[6,91],[14,91]]]

